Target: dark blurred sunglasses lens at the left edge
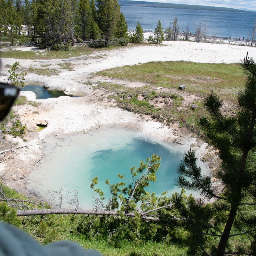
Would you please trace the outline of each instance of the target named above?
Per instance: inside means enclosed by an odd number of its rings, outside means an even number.
[[[19,92],[19,88],[13,85],[0,83],[0,120],[8,114]]]

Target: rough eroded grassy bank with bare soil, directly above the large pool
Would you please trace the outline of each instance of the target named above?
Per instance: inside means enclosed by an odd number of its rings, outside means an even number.
[[[156,92],[149,86],[128,88],[119,84],[101,83],[99,87],[106,90],[109,99],[116,100],[119,108],[151,116],[166,125],[178,122],[182,126],[190,126],[195,123],[197,116],[206,114],[203,108],[182,108],[184,99],[177,93]]]

